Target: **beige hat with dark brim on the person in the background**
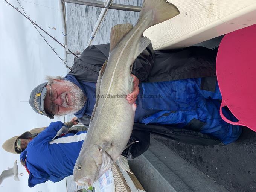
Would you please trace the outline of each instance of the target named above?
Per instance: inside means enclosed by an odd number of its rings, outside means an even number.
[[[17,139],[27,139],[30,137],[32,137],[32,134],[29,131],[26,131],[25,133],[21,134],[20,136],[14,136],[14,137],[6,140],[3,143],[2,147],[7,152],[14,153],[14,154],[20,154],[22,151],[18,151],[15,148],[15,143],[16,143]]]

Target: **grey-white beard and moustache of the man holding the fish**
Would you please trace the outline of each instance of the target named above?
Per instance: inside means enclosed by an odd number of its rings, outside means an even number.
[[[69,90],[68,92],[70,93],[70,99],[72,101],[72,106],[67,105],[66,97],[65,97],[66,93],[62,93],[60,95],[61,99],[63,100],[62,106],[68,107],[69,110],[66,111],[65,114],[59,113],[56,116],[76,113],[77,111],[81,110],[84,107],[87,98],[85,97],[84,92],[76,84],[67,80],[63,80],[62,82],[55,81],[54,84],[61,85],[62,87],[65,87],[67,90]]]

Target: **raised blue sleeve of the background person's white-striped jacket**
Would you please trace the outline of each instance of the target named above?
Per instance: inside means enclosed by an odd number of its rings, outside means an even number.
[[[38,134],[32,142],[40,141],[41,143],[46,143],[52,141],[55,137],[60,136],[62,133],[67,133],[68,128],[62,122],[57,121],[50,123],[50,125]]]

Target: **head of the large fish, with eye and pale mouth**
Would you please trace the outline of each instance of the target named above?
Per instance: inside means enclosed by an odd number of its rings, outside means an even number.
[[[79,186],[91,186],[98,180],[102,165],[102,154],[97,146],[81,150],[73,169],[73,179]]]

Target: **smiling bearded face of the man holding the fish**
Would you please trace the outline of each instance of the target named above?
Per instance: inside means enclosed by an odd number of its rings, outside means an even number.
[[[46,86],[47,93],[44,100],[44,109],[47,113],[51,113],[51,105],[58,105],[58,115],[75,113],[85,105],[85,96],[83,91],[75,84],[66,80],[56,80],[51,84],[51,89],[57,92],[57,98],[53,101],[50,100],[50,85]],[[57,109],[57,110],[58,110]]]

